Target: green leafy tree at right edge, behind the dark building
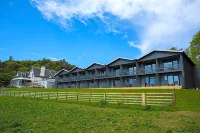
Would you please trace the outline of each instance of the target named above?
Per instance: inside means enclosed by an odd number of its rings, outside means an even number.
[[[200,66],[200,31],[193,36],[185,52],[197,66]]]

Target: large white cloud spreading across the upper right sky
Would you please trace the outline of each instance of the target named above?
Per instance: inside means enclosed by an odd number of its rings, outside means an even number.
[[[31,3],[47,20],[66,29],[70,29],[74,19],[87,25],[87,20],[98,18],[108,31],[116,34],[121,32],[118,24],[128,21],[133,27],[141,27],[137,29],[139,43],[133,46],[142,53],[171,46],[186,48],[200,29],[199,0],[31,0]]]

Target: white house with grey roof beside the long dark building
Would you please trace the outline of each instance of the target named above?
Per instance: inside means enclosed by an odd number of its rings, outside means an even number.
[[[18,72],[11,81],[13,87],[42,87],[54,88],[55,71],[46,69],[45,67],[32,67],[29,72]]]

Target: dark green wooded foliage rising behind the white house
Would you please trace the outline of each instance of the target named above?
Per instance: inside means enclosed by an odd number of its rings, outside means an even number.
[[[12,56],[9,57],[7,61],[0,61],[0,87],[8,86],[11,79],[20,72],[29,71],[32,66],[41,67],[44,66],[47,69],[59,71],[61,69],[70,70],[74,65],[69,64],[65,59],[60,61],[52,61],[49,59],[43,58],[42,60],[32,61],[32,60],[23,60],[16,61]]]

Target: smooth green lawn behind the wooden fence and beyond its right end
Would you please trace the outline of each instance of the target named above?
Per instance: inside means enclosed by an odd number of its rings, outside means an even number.
[[[8,88],[9,91],[37,92],[172,92],[171,89],[41,89],[41,88]],[[200,111],[200,90],[176,90],[177,108],[179,111]],[[90,105],[89,105],[90,106]]]

